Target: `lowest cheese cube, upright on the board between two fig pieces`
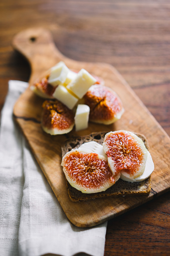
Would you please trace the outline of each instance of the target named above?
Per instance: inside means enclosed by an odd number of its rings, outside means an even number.
[[[87,105],[79,104],[75,114],[76,131],[84,130],[88,127],[90,108]]]

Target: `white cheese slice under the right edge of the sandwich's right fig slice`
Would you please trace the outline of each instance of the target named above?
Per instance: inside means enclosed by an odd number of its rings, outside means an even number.
[[[149,151],[147,151],[147,159],[146,159],[146,164],[145,164],[143,174],[136,178],[133,178],[133,177],[130,178],[129,176],[127,178],[123,174],[121,174],[120,179],[127,182],[141,182],[146,180],[151,175],[153,170],[154,170],[154,163]]]

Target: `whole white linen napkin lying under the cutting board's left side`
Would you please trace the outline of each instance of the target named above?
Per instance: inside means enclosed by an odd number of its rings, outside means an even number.
[[[9,81],[1,115],[0,255],[102,256],[107,222],[79,228],[67,219],[13,120],[13,106],[27,86]]]

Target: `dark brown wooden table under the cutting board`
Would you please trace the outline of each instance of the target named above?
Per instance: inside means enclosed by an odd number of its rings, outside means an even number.
[[[170,135],[168,0],[2,0],[0,12],[0,109],[8,80],[28,81],[31,72],[13,50],[13,37],[44,27],[67,57],[112,64]],[[108,221],[104,255],[169,255],[168,198],[163,194]]]

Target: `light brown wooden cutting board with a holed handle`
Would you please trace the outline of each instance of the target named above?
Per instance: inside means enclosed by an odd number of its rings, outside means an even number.
[[[117,70],[105,63],[78,62],[63,56],[56,48],[48,30],[28,29],[16,35],[13,46],[29,61],[32,69],[29,84],[59,61],[70,69],[85,68],[91,74],[102,77],[105,85],[121,98],[125,112],[116,123],[106,126],[89,123],[87,130],[71,131],[67,135],[51,136],[41,129],[43,99],[28,88],[14,106],[14,117],[27,138],[45,177],[53,189],[68,219],[76,226],[90,227],[116,217],[154,196],[169,190],[170,138],[137,98]],[[155,169],[151,175],[151,192],[148,196],[96,199],[88,202],[70,201],[61,168],[61,145],[72,135],[87,135],[94,131],[130,130],[142,133],[148,139]]]

